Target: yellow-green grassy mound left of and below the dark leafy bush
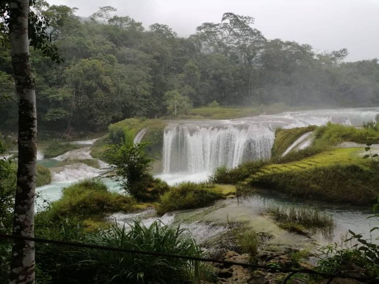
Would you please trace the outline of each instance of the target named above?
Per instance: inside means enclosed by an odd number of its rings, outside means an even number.
[[[65,187],[62,197],[54,201],[44,212],[50,221],[61,218],[85,219],[101,217],[106,213],[135,209],[135,201],[115,192],[109,192],[98,179],[83,179]]]

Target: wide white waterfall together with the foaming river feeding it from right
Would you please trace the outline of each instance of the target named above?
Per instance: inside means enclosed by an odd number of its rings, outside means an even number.
[[[210,173],[220,165],[232,168],[244,161],[270,158],[277,128],[327,122],[359,126],[374,121],[378,112],[378,108],[319,109],[235,120],[175,121],[164,130],[160,177],[170,182],[168,174],[183,173],[183,177],[172,175],[176,182],[187,180],[185,175]],[[301,147],[306,147],[311,140],[303,142]]]

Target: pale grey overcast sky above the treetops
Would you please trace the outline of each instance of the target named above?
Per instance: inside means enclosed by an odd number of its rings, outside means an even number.
[[[88,17],[111,5],[118,16],[169,25],[188,36],[203,22],[220,22],[224,12],[255,18],[267,39],[312,45],[315,50],[348,48],[346,61],[379,58],[379,0],[47,0],[77,7]]]

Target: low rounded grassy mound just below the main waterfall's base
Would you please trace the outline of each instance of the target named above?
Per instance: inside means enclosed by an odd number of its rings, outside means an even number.
[[[205,207],[222,198],[222,193],[215,189],[214,184],[180,183],[172,186],[161,196],[157,212],[164,214],[169,211]]]

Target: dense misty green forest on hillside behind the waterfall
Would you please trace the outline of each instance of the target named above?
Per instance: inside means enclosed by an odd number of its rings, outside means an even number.
[[[345,62],[348,50],[266,39],[254,18],[226,12],[184,38],[164,24],[37,1],[56,64],[31,48],[39,130],[106,128],[130,117],[185,114],[202,106],[353,107],[379,103],[377,59]],[[0,49],[0,126],[17,128],[9,48]]]

